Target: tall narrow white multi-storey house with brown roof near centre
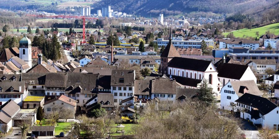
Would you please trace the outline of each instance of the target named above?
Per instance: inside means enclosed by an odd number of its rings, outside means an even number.
[[[122,100],[134,96],[135,71],[112,70],[110,85],[114,106],[119,107]]]

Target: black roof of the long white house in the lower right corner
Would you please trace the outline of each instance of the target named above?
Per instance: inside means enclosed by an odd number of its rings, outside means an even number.
[[[240,98],[238,98],[235,102],[242,103],[251,107],[255,107],[259,110],[262,115],[268,114],[273,109],[278,106],[267,98],[263,98],[257,95],[252,95],[249,93],[245,93]]]

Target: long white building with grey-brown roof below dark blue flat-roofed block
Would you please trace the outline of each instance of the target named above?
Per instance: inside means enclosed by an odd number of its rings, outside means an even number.
[[[271,68],[274,71],[276,70],[276,60],[275,59],[251,59],[245,60],[244,63],[247,63],[251,69],[255,69],[258,73],[264,73],[267,68]]]

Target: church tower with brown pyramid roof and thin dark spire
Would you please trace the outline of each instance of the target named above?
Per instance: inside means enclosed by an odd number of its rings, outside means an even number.
[[[178,53],[176,48],[173,46],[171,40],[172,38],[171,38],[171,29],[170,29],[169,43],[160,56],[161,57],[161,64],[159,67],[160,74],[168,74],[167,72],[168,62],[174,57],[181,57],[181,55]]]

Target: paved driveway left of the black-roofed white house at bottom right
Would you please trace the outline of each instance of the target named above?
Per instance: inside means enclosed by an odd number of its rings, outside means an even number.
[[[242,119],[241,119],[242,120]],[[247,120],[242,120],[242,126],[240,127],[243,133],[245,133],[246,138],[258,139],[259,131],[254,125],[251,125]]]

